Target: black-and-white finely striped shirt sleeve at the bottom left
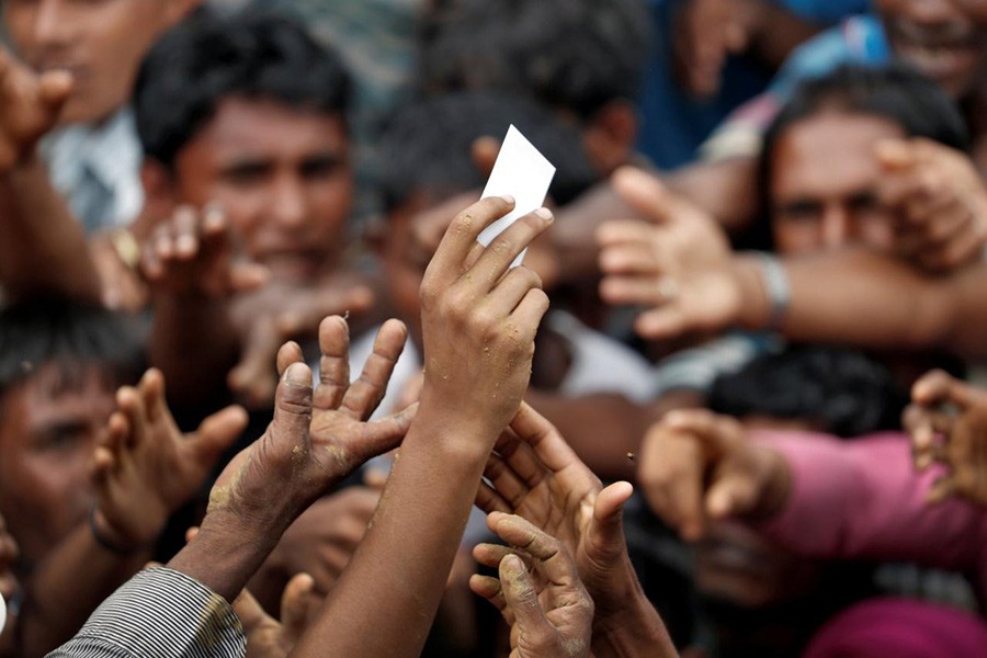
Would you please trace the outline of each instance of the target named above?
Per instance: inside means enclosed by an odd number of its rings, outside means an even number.
[[[124,583],[48,658],[226,658],[246,651],[240,620],[223,597],[159,567]]]

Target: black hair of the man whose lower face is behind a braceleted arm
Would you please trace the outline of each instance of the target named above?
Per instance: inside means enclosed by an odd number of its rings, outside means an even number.
[[[908,137],[969,150],[969,132],[960,110],[930,78],[904,64],[842,66],[799,83],[764,134],[758,185],[767,216],[771,215],[771,177],[779,139],[792,124],[826,111],[888,118]]]

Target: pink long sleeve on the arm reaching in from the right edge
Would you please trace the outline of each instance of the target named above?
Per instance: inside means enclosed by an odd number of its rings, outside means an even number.
[[[792,469],[789,503],[759,526],[765,536],[814,557],[903,560],[971,572],[987,601],[987,510],[962,500],[926,503],[942,469],[916,473],[907,435],[755,436],[780,451]]]

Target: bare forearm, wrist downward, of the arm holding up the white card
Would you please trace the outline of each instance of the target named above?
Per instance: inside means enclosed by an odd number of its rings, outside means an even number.
[[[420,655],[496,438],[426,409],[363,542],[293,656]]]

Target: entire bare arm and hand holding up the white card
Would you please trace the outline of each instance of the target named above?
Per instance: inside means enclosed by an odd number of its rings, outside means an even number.
[[[418,416],[366,536],[294,656],[421,653],[487,455],[527,387],[548,306],[533,272],[508,268],[551,215],[526,215],[489,248],[476,242],[512,205],[490,197],[461,213],[426,272]]]

